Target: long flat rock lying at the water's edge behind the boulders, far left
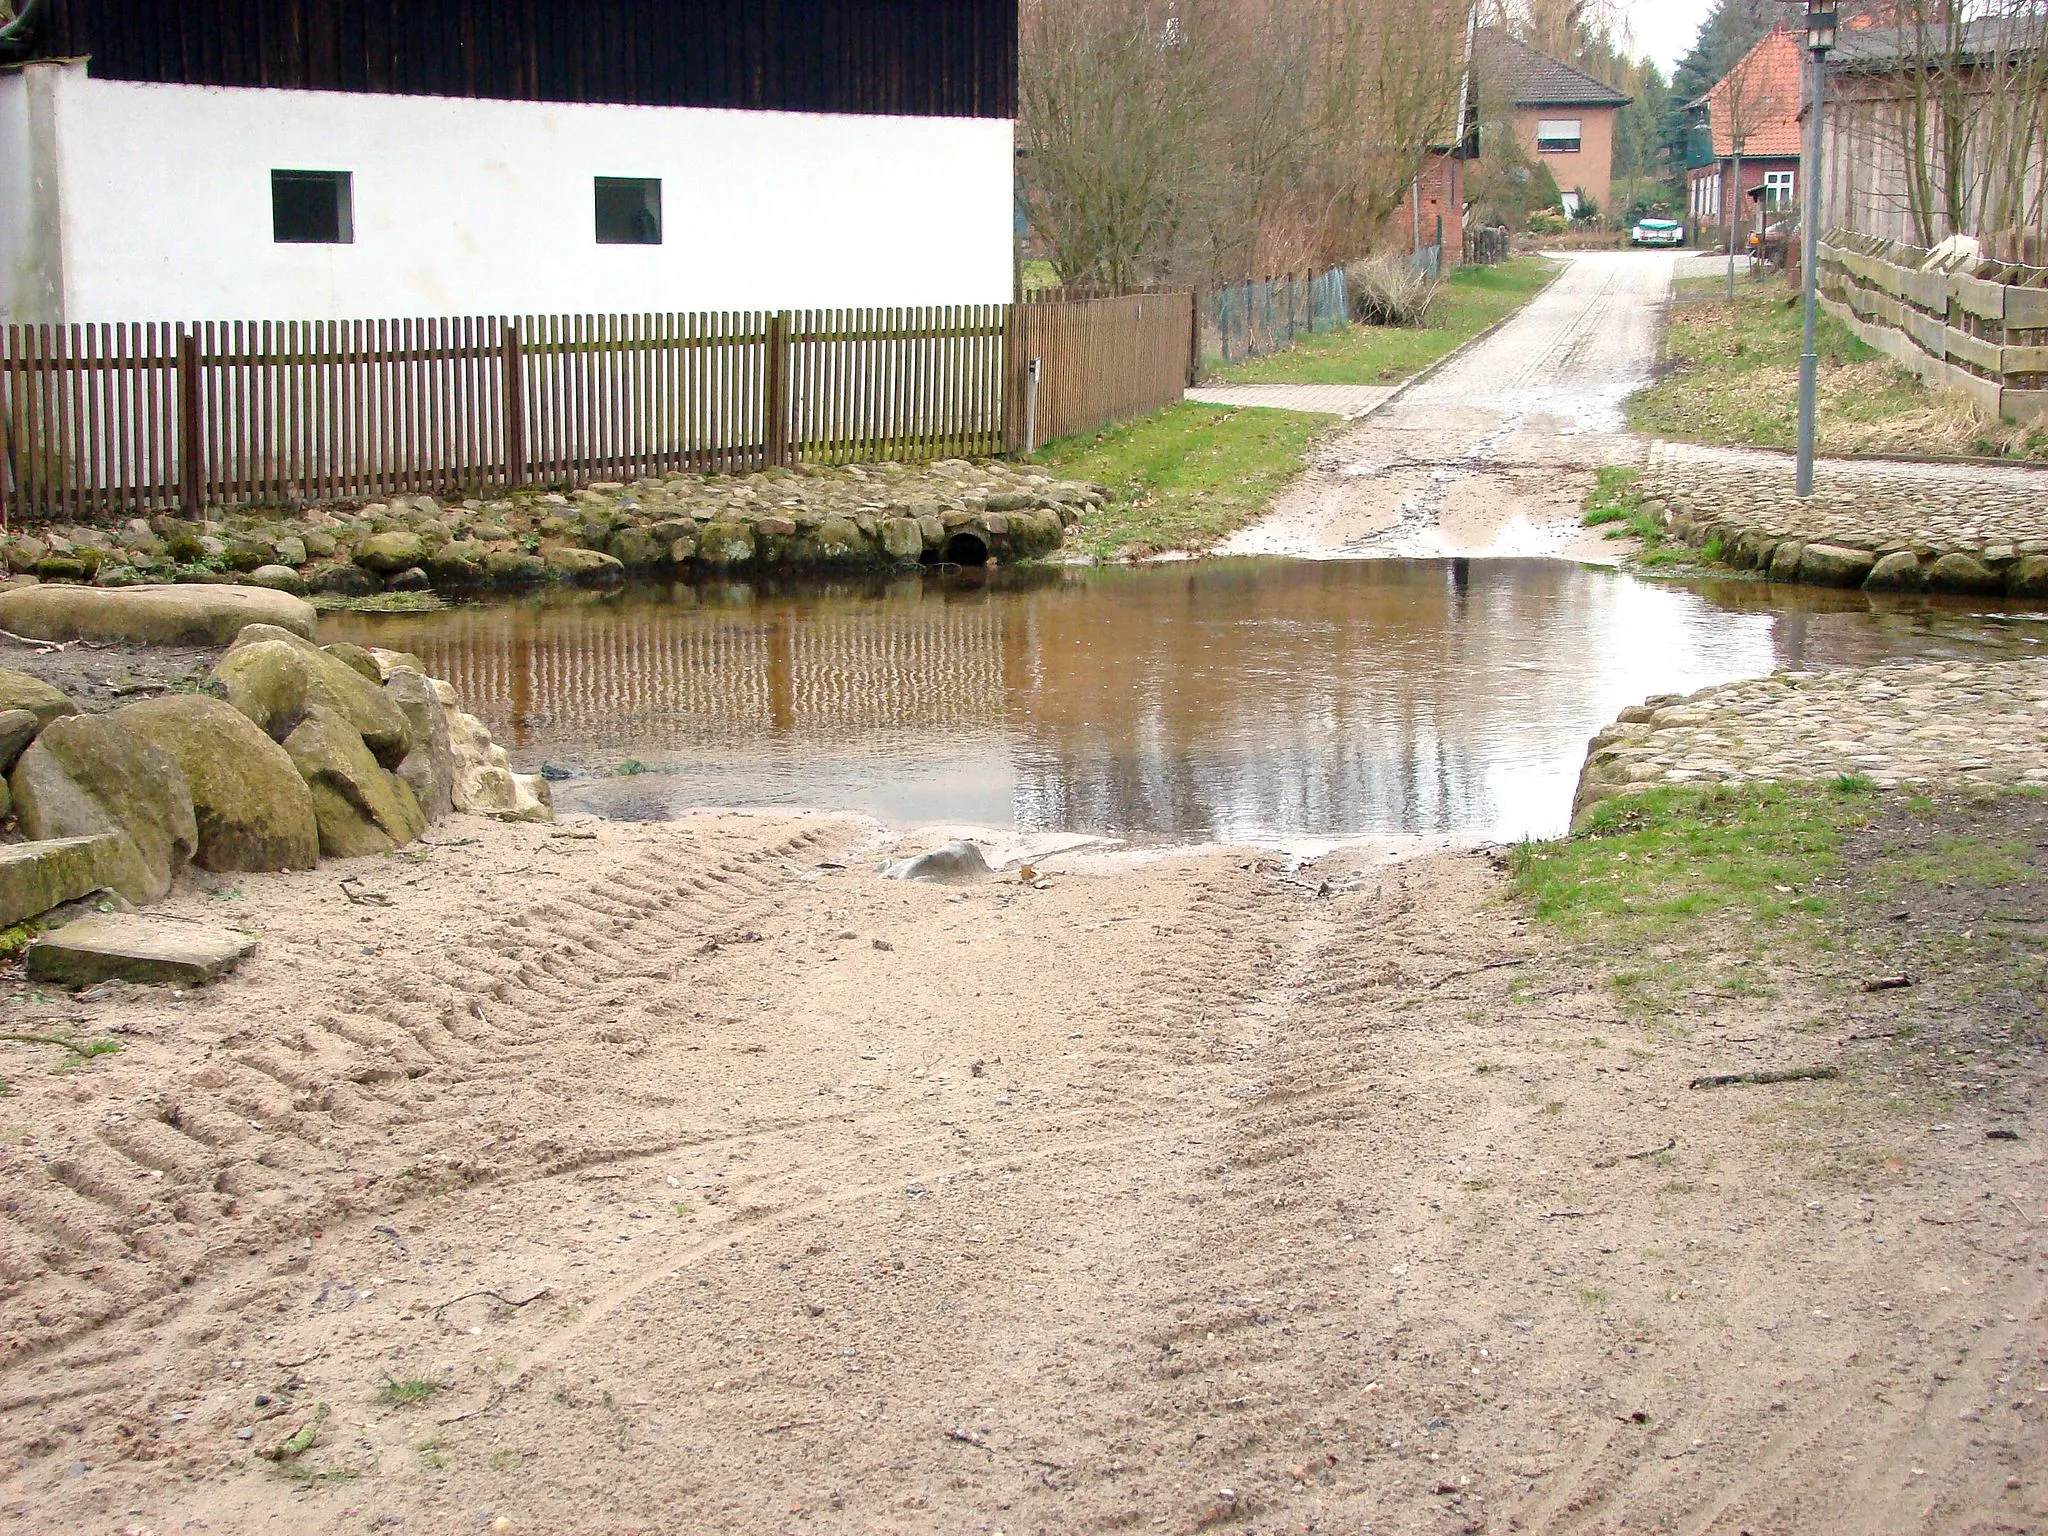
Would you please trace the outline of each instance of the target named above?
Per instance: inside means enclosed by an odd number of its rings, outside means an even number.
[[[0,629],[49,641],[227,645],[248,625],[313,633],[311,604],[260,586],[25,586],[0,592]]]

